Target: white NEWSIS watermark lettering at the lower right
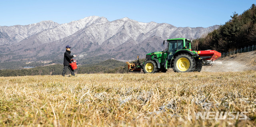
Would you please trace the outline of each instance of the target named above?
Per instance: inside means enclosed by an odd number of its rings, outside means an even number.
[[[204,112],[197,112],[196,113],[196,120],[199,119],[199,117],[201,117],[201,119],[216,119],[216,120],[221,120],[221,119],[247,119],[247,115],[245,115],[245,113],[248,112],[234,112],[234,111],[230,111],[230,112],[218,112],[218,111],[204,111]]]

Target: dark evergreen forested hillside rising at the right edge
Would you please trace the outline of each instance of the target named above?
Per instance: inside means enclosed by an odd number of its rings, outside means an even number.
[[[193,50],[217,50],[228,52],[245,46],[256,45],[256,6],[252,6],[242,14],[234,12],[231,20],[205,37],[193,40]]]

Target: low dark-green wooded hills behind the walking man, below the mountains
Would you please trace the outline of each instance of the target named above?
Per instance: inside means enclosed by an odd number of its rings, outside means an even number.
[[[79,65],[75,73],[127,73],[128,67],[124,62],[117,60],[106,60],[97,64]],[[61,75],[63,65],[48,65],[42,67],[34,67],[31,69],[2,69],[0,76],[24,76],[24,75]],[[69,75],[68,70],[66,75]]]

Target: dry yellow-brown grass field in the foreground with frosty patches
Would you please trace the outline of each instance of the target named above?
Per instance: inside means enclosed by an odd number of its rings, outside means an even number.
[[[0,126],[256,126],[256,71],[0,77],[0,95]]]

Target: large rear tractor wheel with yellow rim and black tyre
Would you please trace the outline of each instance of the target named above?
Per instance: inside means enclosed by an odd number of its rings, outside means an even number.
[[[192,72],[196,66],[195,59],[188,54],[176,56],[173,63],[174,72]]]

